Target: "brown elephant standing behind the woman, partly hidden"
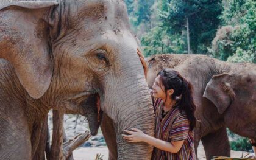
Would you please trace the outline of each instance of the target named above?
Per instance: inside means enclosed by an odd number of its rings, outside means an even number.
[[[148,57],[147,82],[153,85],[163,68],[174,69],[194,88],[196,128],[194,145],[204,145],[207,159],[230,156],[226,127],[240,136],[256,139],[256,65],[228,63],[207,55],[158,54]],[[116,159],[115,137],[109,133],[112,119],[102,119],[101,128]],[[106,127],[107,126],[107,127]]]

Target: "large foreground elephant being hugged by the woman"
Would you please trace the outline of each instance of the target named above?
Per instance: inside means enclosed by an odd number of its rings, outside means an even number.
[[[154,136],[124,1],[3,0],[0,32],[0,159],[44,156],[37,149],[45,148],[40,133],[50,109],[91,117],[93,134],[104,113],[113,119],[118,159],[151,157],[152,146],[121,138],[130,127]]]

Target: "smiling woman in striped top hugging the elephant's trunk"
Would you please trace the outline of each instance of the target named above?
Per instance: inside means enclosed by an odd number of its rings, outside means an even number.
[[[137,50],[145,71],[146,61]],[[196,159],[193,144],[193,128],[196,125],[192,88],[179,72],[163,69],[152,86],[155,111],[155,137],[144,134],[137,128],[126,131],[127,142],[146,142],[154,146],[152,159]]]

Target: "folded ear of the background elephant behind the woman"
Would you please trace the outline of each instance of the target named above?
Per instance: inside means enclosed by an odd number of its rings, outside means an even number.
[[[209,99],[218,109],[220,114],[229,107],[235,100],[235,92],[232,89],[232,75],[221,74],[215,75],[204,91],[203,97]]]

